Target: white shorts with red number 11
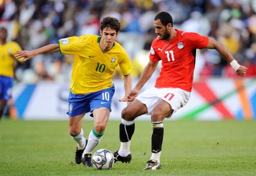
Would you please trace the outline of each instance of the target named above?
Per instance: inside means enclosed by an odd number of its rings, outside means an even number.
[[[179,88],[152,87],[139,94],[135,99],[147,106],[147,114],[151,114],[156,104],[160,101],[160,99],[163,99],[172,106],[172,114],[174,114],[179,108],[182,108],[187,104],[189,98],[190,92]],[[170,118],[172,114],[167,118]]]

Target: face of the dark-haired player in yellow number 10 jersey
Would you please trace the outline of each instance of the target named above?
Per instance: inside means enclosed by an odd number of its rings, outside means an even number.
[[[114,42],[116,41],[116,37],[119,32],[116,33],[115,29],[104,28],[103,31],[100,31],[101,42],[103,42],[103,46],[112,47]]]

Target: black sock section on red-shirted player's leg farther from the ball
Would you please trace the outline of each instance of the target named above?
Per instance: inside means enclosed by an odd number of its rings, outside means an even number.
[[[152,153],[158,153],[162,150],[162,139],[163,139],[163,127],[153,128],[151,136],[151,150]]]

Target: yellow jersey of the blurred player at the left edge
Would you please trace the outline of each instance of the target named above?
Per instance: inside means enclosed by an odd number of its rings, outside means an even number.
[[[14,76],[14,60],[16,51],[22,50],[18,43],[10,41],[4,45],[0,44],[0,75],[6,77]],[[20,58],[19,60],[22,60]]]

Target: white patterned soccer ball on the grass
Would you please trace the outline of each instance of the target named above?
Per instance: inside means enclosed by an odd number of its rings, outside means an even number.
[[[114,156],[108,149],[97,150],[91,158],[94,168],[98,170],[106,170],[113,167],[114,161]]]

